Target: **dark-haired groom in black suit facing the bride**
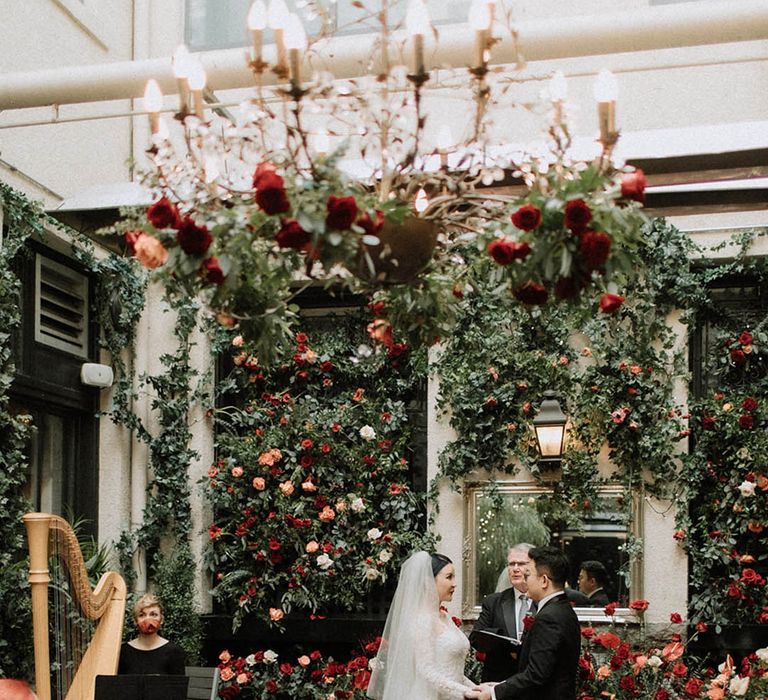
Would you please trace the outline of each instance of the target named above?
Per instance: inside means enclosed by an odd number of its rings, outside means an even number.
[[[581,631],[564,593],[568,559],[554,547],[535,547],[528,556],[525,581],[538,611],[523,635],[518,673],[479,686],[479,700],[576,699]]]

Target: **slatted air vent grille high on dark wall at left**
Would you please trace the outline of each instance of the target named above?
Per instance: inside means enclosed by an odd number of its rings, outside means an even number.
[[[36,280],[35,340],[88,357],[88,278],[38,255]]]

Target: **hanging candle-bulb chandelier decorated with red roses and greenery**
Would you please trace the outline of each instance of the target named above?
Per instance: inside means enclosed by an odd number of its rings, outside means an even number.
[[[504,130],[516,84],[489,65],[494,45],[516,38],[496,0],[471,3],[473,55],[450,71],[425,68],[438,33],[424,0],[410,0],[399,23],[387,0],[372,11],[360,3],[359,23],[377,32],[361,37],[371,40],[367,72],[346,80],[309,69],[327,46],[329,13],[319,1],[304,10],[323,26],[311,42],[283,0],[253,3],[253,92],[232,115],[206,107],[204,70],[184,47],[173,58],[176,125],[162,120],[163,96],[148,83],[144,180],[156,201],[120,224],[140,262],[247,330],[264,362],[286,344],[293,300],[312,284],[372,295],[370,332],[390,350],[449,333],[478,274],[497,277],[513,303],[598,291],[602,311],[621,306],[642,243],[645,179],[611,162],[612,75],[596,84],[596,159],[570,156],[561,73],[544,98],[548,151],[520,154]],[[428,115],[438,91],[470,98],[462,135]],[[510,175],[522,194],[500,187]]]

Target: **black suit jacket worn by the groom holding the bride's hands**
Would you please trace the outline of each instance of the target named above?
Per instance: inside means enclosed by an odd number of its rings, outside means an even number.
[[[575,700],[581,630],[565,595],[541,608],[523,635],[519,671],[499,683],[496,700]]]

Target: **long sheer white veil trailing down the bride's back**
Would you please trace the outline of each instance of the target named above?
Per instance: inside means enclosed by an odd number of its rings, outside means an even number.
[[[437,698],[417,673],[419,623],[439,615],[440,602],[432,574],[432,558],[427,552],[412,554],[400,570],[397,590],[387,614],[379,652],[373,661],[368,697],[375,700]]]

